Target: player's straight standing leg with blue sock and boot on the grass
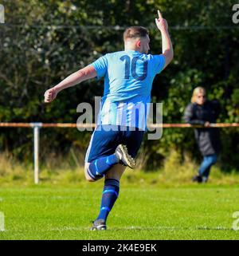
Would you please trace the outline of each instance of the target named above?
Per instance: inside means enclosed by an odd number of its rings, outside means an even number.
[[[116,164],[106,173],[100,204],[100,213],[93,222],[92,230],[106,230],[106,220],[119,196],[119,180],[123,175],[125,168],[126,167],[121,164]]]

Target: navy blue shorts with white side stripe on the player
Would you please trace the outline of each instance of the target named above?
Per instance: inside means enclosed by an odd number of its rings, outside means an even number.
[[[105,131],[107,128],[117,128],[117,131]],[[92,133],[90,144],[85,156],[85,162],[91,163],[103,156],[110,156],[116,152],[119,144],[127,145],[127,152],[134,157],[139,151],[145,131],[135,128],[135,131],[130,131],[129,127],[124,127],[125,131],[119,129],[119,125],[101,125],[98,126]]]

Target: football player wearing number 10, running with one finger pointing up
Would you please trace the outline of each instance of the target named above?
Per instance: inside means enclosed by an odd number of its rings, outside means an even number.
[[[159,10],[158,14],[155,23],[162,35],[162,54],[148,54],[147,29],[131,26],[123,33],[123,51],[100,57],[45,92],[45,102],[51,102],[63,89],[93,77],[104,77],[100,121],[92,133],[84,166],[88,181],[104,177],[100,213],[92,230],[106,230],[108,214],[119,196],[123,171],[135,167],[135,156],[146,128],[147,111],[143,108],[150,103],[153,80],[174,56],[167,21]]]

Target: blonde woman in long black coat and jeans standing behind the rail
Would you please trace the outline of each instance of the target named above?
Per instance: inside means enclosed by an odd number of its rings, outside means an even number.
[[[194,89],[191,103],[187,105],[184,120],[188,124],[200,124],[204,128],[195,128],[194,135],[198,148],[203,156],[198,175],[193,181],[206,182],[210,175],[210,168],[217,162],[220,151],[220,135],[218,128],[210,128],[211,123],[216,123],[219,116],[220,105],[217,100],[206,100],[206,90],[202,87]]]

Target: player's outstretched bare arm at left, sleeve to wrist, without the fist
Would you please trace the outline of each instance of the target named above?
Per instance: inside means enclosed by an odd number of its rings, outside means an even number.
[[[61,83],[54,86],[54,89],[56,89],[57,93],[59,93],[63,89],[80,84],[82,81],[86,81],[93,77],[96,77],[96,71],[93,67],[88,66],[84,69],[76,71],[75,73],[72,73],[69,77],[66,77],[63,81],[61,81]]]

